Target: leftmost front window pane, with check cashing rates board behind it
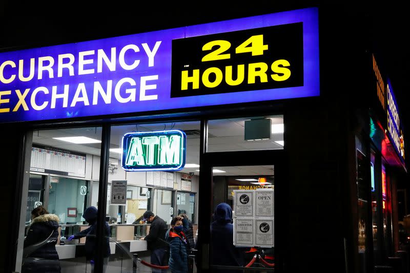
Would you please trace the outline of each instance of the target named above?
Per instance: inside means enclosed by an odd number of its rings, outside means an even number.
[[[98,127],[33,132],[30,166],[25,166],[30,177],[23,185],[22,205],[27,209],[20,218],[25,223],[20,223],[15,271],[91,270],[93,253],[80,251],[87,238],[79,232],[92,223],[83,214],[98,199],[90,181],[99,179],[100,145]],[[68,240],[72,235],[76,237]]]

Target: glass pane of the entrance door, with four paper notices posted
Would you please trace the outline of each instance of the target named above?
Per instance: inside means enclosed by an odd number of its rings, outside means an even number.
[[[274,166],[214,166],[212,171],[211,268],[274,267]]]

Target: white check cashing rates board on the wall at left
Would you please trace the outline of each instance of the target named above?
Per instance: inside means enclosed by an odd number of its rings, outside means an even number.
[[[33,144],[30,171],[86,177],[86,154]]]

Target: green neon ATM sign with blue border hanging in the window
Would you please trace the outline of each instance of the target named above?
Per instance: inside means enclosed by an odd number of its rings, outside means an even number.
[[[179,130],[133,132],[122,137],[122,169],[179,171],[185,166],[187,136]]]

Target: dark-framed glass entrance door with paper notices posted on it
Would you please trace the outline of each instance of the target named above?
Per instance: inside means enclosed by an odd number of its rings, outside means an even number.
[[[277,224],[283,221],[285,208],[279,212],[275,209],[275,203],[286,193],[284,167],[280,162],[283,155],[283,150],[206,155],[207,161],[212,162],[206,168],[212,181],[210,271],[277,269],[275,264],[281,258],[280,251],[275,250],[286,237],[282,237],[283,225]],[[199,201],[200,211],[201,204]],[[275,234],[281,235],[275,237]],[[198,235],[201,236],[200,231]],[[199,243],[202,244],[200,239]]]

